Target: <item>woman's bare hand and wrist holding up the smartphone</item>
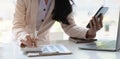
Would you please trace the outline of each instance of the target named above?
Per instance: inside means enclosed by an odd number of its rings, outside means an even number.
[[[96,32],[103,27],[102,20],[103,20],[103,15],[101,15],[100,18],[93,17],[90,20],[90,22],[89,22],[90,28],[87,31],[86,38],[95,38]]]

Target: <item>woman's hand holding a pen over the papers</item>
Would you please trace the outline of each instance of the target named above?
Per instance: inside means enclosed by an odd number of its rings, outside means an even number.
[[[37,39],[34,36],[26,35],[25,39],[21,40],[21,47],[37,47]]]

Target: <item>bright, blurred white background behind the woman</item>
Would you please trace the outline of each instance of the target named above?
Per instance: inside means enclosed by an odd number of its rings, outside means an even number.
[[[100,6],[109,6],[110,9],[104,16],[104,27],[97,33],[96,38],[115,38],[119,19],[120,0],[73,0],[73,14],[78,26],[86,27],[91,17]],[[12,41],[11,27],[15,11],[16,0],[0,0],[0,42]],[[112,33],[112,34],[111,34]],[[56,22],[51,28],[51,40],[67,40],[60,24]],[[54,38],[53,38],[54,37]]]

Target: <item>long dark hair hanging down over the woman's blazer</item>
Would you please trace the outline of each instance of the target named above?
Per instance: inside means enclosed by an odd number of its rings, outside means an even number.
[[[72,12],[72,0],[55,0],[52,19],[69,25],[67,16]],[[73,1],[72,1],[73,2]]]

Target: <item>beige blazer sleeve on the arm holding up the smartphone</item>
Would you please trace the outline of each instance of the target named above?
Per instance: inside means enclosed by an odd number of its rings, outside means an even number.
[[[64,32],[68,34],[70,37],[86,38],[86,33],[88,29],[77,26],[73,20],[72,14],[68,16],[68,20],[70,25],[61,23]]]

